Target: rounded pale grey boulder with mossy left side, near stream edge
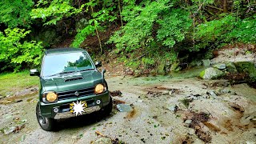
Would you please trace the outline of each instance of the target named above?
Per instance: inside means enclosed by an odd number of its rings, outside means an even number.
[[[222,70],[218,70],[214,67],[207,68],[206,70],[202,70],[199,77],[203,79],[215,79],[222,77],[224,73]]]

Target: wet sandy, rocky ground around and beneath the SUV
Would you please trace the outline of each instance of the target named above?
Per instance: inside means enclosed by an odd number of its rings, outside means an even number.
[[[256,90],[190,77],[193,73],[106,77],[110,91],[122,92],[113,97],[114,104],[133,110],[120,112],[114,106],[108,117],[62,119],[54,132],[38,126],[36,91],[0,99],[0,143],[90,143],[101,137],[96,131],[125,143],[255,143]]]

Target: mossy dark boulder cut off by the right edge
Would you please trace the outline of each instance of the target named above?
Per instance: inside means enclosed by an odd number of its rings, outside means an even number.
[[[256,68],[253,62],[235,62],[239,73],[248,74],[250,77],[250,82],[256,82]]]

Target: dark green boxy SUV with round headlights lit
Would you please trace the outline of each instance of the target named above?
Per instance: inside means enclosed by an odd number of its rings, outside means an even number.
[[[93,62],[86,50],[60,48],[46,50],[41,72],[30,70],[40,78],[36,116],[43,130],[53,130],[54,120],[102,110],[110,114],[112,98],[99,72],[101,62]]]

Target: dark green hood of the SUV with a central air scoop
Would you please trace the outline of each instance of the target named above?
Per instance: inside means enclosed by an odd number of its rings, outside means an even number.
[[[60,76],[42,78],[42,89],[44,91],[70,91],[86,87],[93,87],[102,83],[102,74],[98,70],[62,74]]]

